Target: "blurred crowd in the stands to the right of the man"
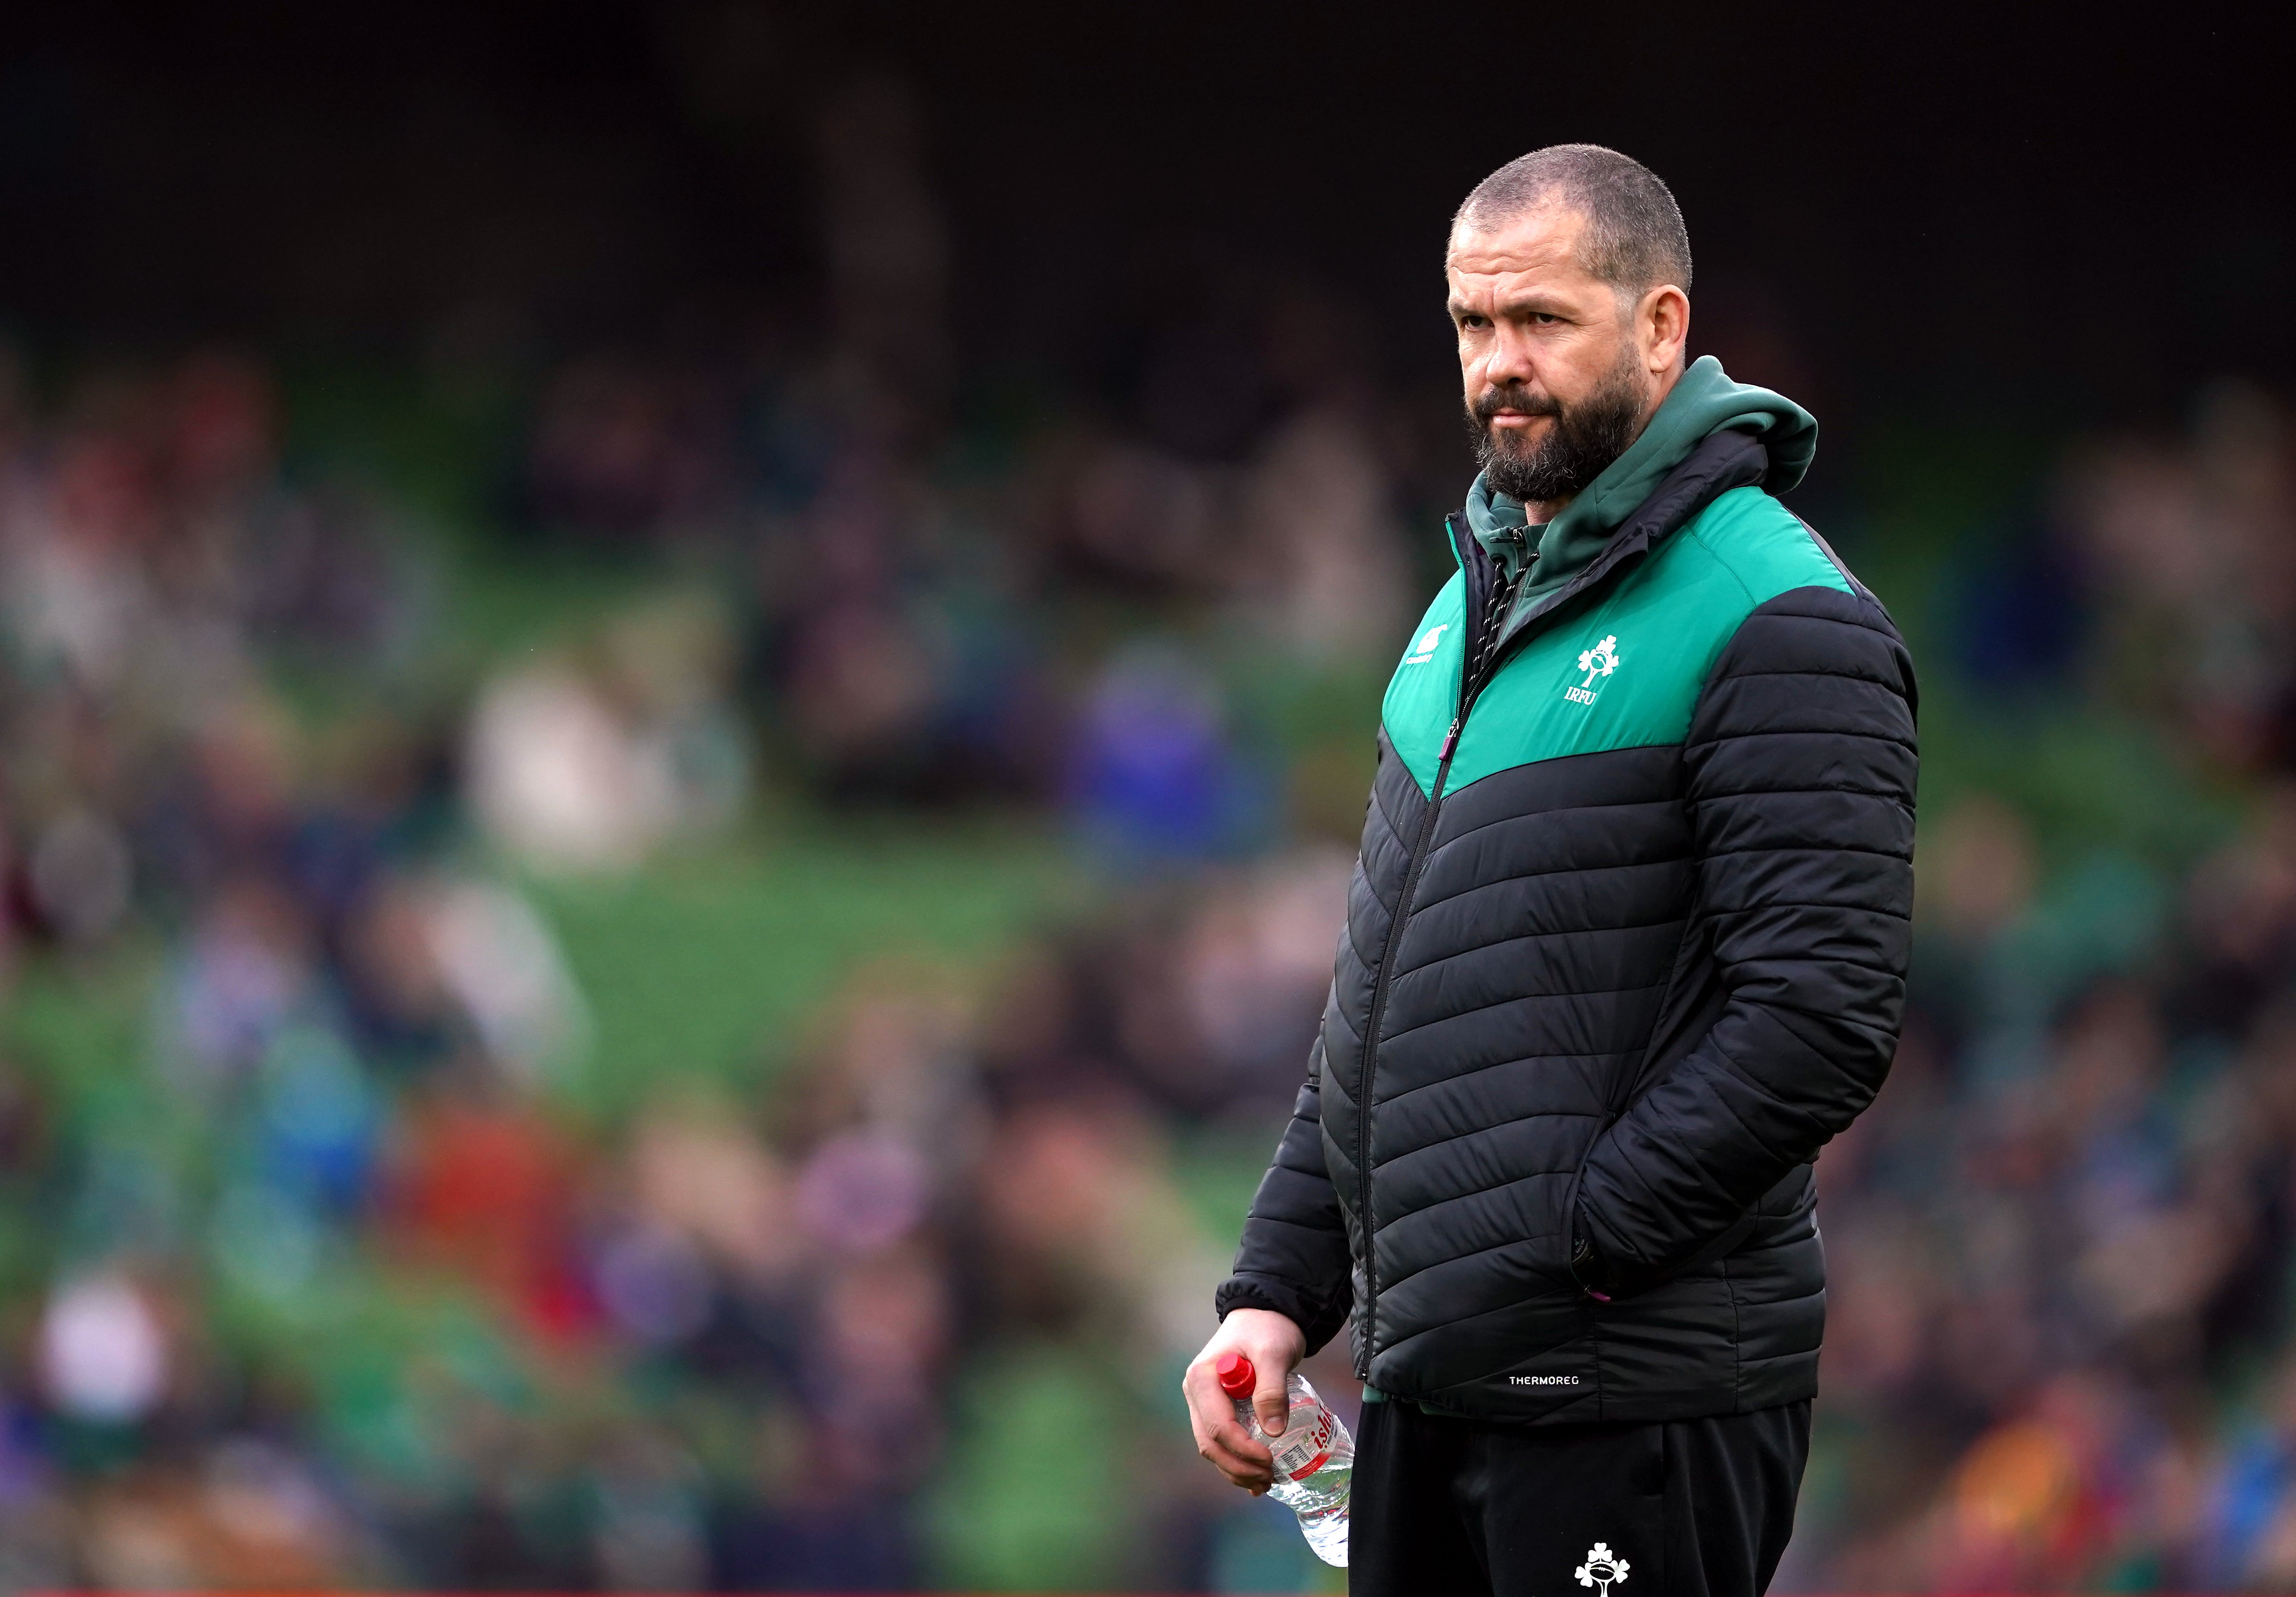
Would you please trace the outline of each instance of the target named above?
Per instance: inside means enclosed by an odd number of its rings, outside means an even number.
[[[2034,526],[1984,538],[1924,731],[2014,749],[1988,761],[2011,788],[2066,770],[1922,818],[1906,1039],[1818,1160],[1832,1291],[1784,1583],[2287,1590],[2296,430],[2225,386],[2181,437],[2073,450]],[[2174,777],[2050,749],[2082,715]]]

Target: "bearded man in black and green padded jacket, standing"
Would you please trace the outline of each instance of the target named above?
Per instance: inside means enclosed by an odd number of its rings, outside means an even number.
[[[1387,689],[1309,1080],[1189,1365],[1350,1326],[1355,1592],[1761,1592],[1825,1264],[1812,1158],[1896,1048],[1915,682],[1773,494],[1816,423],[1685,368],[1690,241],[1635,161],[1492,172],[1449,244],[1481,476]]]

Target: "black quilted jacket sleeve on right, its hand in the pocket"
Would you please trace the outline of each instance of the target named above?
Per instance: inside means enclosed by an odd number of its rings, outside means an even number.
[[[1587,1284],[1692,1262],[1880,1089],[1906,1004],[1915,703],[1871,595],[1795,588],[1722,650],[1683,747],[1715,1020],[1589,1154]]]

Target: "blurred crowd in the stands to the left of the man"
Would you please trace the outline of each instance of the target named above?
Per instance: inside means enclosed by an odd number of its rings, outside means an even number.
[[[1201,1188],[1288,1108],[1345,896],[1283,685],[1375,673],[1407,602],[1366,421],[978,466],[836,361],[569,361],[496,538],[629,597],[466,666],[452,540],[298,464],[262,361],[37,377],[0,370],[0,1586],[1311,1579],[1173,1392]],[[746,848],[760,790],[1063,816],[1097,908],[585,1112],[533,882]]]

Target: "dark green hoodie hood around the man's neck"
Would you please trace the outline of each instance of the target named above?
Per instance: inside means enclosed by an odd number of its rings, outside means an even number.
[[[1763,487],[1773,494],[1793,489],[1818,453],[1818,423],[1809,411],[1782,393],[1736,384],[1720,361],[1711,354],[1699,356],[1674,384],[1642,437],[1559,517],[1534,531],[1529,545],[1538,551],[1536,581],[1527,584],[1515,602],[1536,600],[1570,581],[1603,551],[1651,489],[1690,457],[1690,450],[1727,427],[1752,432],[1770,450]],[[1522,501],[1492,492],[1479,476],[1467,492],[1467,529],[1502,565],[1513,558],[1515,545],[1499,533],[1515,526],[1525,526]]]

